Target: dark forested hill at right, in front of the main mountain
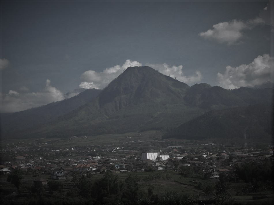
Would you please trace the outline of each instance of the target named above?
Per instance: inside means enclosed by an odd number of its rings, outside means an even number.
[[[213,110],[181,124],[164,138],[259,139],[270,141],[273,134],[273,110],[269,105]]]

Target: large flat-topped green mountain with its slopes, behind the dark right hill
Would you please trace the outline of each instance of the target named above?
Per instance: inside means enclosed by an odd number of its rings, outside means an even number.
[[[87,91],[82,93],[89,95]],[[234,91],[205,83],[189,87],[148,66],[128,67],[97,93],[97,97],[85,100],[81,106],[69,110],[57,104],[52,108],[49,104],[39,112],[31,109],[32,114],[7,121],[10,129],[6,129],[3,136],[71,137],[166,129],[178,127],[210,110],[271,102],[271,93],[273,89]],[[65,112],[61,113],[62,109]],[[53,114],[48,117],[46,113]],[[26,122],[22,122],[24,119]],[[29,120],[36,124],[27,123]],[[24,123],[31,126],[21,129]],[[16,129],[13,129],[15,124]]]

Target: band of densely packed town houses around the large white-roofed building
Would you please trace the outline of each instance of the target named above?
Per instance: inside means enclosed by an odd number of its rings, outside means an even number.
[[[205,177],[214,179],[220,173],[231,173],[233,165],[237,163],[272,158],[273,146],[270,145],[266,150],[252,147],[235,150],[214,143],[198,145],[189,142],[177,145],[170,140],[126,141],[123,146],[75,147],[18,143],[4,147],[1,155],[1,175],[19,168],[36,177],[70,180],[74,172],[101,174],[106,171],[125,173],[168,170],[178,173],[190,166],[198,167]]]

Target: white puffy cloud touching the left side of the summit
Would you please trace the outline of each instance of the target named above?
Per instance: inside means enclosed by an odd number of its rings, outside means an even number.
[[[137,61],[126,60],[122,66],[116,65],[111,68],[106,68],[102,72],[88,70],[81,75],[80,78],[82,82],[79,86],[85,89],[103,89],[130,66],[142,66],[142,64]]]

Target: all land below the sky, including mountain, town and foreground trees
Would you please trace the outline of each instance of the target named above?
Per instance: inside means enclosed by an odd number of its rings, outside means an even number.
[[[272,96],[143,66],[3,114],[1,204],[272,204]]]

